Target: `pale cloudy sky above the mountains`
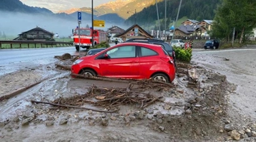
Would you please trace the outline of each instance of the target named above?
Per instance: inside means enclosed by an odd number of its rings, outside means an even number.
[[[25,5],[34,7],[45,7],[52,12],[69,10],[71,8],[91,7],[91,0],[20,0]],[[94,0],[94,7],[102,3],[115,0]]]

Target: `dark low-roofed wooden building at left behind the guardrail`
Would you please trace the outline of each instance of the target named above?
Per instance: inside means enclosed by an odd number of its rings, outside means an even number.
[[[14,40],[48,41],[54,40],[53,36],[54,33],[37,26],[34,29],[20,33]]]

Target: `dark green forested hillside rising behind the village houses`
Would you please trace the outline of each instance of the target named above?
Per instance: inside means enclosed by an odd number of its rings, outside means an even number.
[[[180,8],[179,18],[184,16],[193,20],[213,20],[217,5],[221,3],[221,0],[186,0],[182,1]],[[159,2],[158,4],[159,18],[165,18],[165,1]],[[171,20],[175,20],[177,11],[180,5],[180,0],[167,0],[167,25],[171,23]],[[126,24],[134,23],[134,15],[130,16],[126,20]],[[143,26],[150,26],[155,24],[158,20],[156,5],[145,7],[141,12],[136,14],[137,24]],[[160,27],[164,29],[164,20],[162,20]]]

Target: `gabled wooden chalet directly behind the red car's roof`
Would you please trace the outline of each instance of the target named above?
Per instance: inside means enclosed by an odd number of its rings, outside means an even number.
[[[126,41],[128,39],[138,38],[138,39],[153,39],[154,37],[147,33],[144,29],[141,28],[138,24],[134,24],[129,29],[124,31],[124,33],[118,35],[117,37],[120,37],[123,39],[123,41]]]

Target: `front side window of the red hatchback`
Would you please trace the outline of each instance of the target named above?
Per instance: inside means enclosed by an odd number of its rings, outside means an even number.
[[[136,46],[121,46],[106,52],[109,58],[132,58],[136,57]]]

